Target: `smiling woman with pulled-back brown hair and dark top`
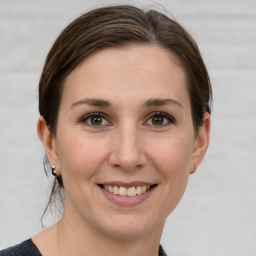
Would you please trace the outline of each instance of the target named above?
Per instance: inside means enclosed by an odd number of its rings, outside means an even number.
[[[63,215],[1,255],[165,255],[165,220],[207,151],[210,100],[197,45],[175,21],[132,6],[77,18],[39,83]]]

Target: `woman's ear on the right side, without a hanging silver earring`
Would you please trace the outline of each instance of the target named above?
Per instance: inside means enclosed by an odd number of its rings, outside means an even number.
[[[190,174],[194,173],[196,168],[202,162],[209,146],[211,118],[208,112],[204,113],[203,124],[198,128],[195,136],[193,156],[190,166]]]

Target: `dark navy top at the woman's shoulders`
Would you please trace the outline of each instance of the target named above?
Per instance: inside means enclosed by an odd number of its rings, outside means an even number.
[[[162,246],[159,246],[159,256],[167,256]],[[28,239],[21,244],[9,247],[0,251],[0,256],[42,256],[36,245],[31,239]]]

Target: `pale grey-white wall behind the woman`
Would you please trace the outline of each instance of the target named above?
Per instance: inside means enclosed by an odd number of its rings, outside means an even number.
[[[177,256],[255,256],[255,0],[0,0],[0,248],[41,230],[49,193],[36,134],[44,58],[71,20],[113,3],[163,5],[195,37],[212,79],[211,145],[167,220],[164,248]]]

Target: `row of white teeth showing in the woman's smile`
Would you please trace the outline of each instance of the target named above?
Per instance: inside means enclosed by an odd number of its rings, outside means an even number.
[[[118,187],[118,186],[111,186],[111,185],[104,185],[103,186],[105,190],[109,191],[110,193],[113,193],[115,195],[120,196],[136,196],[140,195],[142,193],[145,193],[147,190],[149,190],[150,186],[137,186],[137,187]]]

